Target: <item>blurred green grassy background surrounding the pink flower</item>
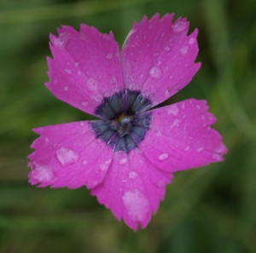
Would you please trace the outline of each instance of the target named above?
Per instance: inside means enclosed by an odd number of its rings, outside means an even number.
[[[134,233],[85,187],[32,187],[33,127],[88,118],[44,87],[49,32],[80,23],[122,45],[134,20],[176,13],[199,28],[201,70],[166,103],[207,99],[229,148],[223,163],[175,175],[165,201]],[[256,252],[255,0],[1,0],[0,252]]]

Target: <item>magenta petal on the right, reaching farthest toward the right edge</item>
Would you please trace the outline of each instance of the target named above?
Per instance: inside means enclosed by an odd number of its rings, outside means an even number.
[[[176,172],[221,161],[227,152],[207,101],[189,99],[152,110],[150,130],[140,149],[162,170]]]

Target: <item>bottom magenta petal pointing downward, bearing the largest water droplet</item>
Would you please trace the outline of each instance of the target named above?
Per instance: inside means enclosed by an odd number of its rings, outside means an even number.
[[[158,170],[138,149],[129,154],[115,153],[101,185],[91,190],[101,204],[112,210],[117,219],[137,230],[146,227],[164,198],[172,174]]]

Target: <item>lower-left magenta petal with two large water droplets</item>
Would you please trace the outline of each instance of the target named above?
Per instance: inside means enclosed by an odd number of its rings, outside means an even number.
[[[29,182],[38,187],[95,187],[111,164],[113,149],[96,140],[89,122],[34,129],[41,135],[32,143]]]

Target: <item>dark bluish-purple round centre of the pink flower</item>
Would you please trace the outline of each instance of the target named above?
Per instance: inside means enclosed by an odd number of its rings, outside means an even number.
[[[143,140],[149,129],[151,112],[145,112],[151,102],[139,91],[125,89],[104,98],[91,122],[96,138],[106,141],[114,151],[130,152]]]

